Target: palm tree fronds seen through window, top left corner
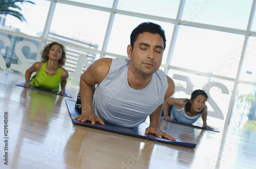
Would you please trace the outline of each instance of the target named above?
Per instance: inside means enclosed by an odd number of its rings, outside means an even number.
[[[24,18],[23,14],[20,13],[20,10],[22,10],[22,8],[20,8],[18,5],[16,5],[15,3],[31,3],[31,4],[35,4],[32,1],[15,1],[15,0],[0,0],[0,14],[9,14],[12,15],[16,18],[18,18],[20,21],[26,21],[26,19]]]

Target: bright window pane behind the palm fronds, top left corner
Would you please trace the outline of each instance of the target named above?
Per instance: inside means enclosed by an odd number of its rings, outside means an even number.
[[[33,2],[35,5],[30,3],[23,3],[23,5],[16,3],[16,5],[22,8],[20,13],[24,16],[27,22],[22,22],[12,15],[2,15],[2,17],[6,17],[6,20],[2,20],[3,22],[0,21],[0,28],[31,36],[36,36],[38,32],[42,32],[45,28],[50,1],[35,0]]]

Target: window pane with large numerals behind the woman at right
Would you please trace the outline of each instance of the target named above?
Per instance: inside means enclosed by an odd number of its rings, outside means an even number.
[[[208,107],[207,124],[213,128],[223,127],[232,94],[230,89],[233,89],[232,81],[176,70],[169,70],[167,75],[174,80],[176,85],[175,93],[172,97],[189,99],[194,90],[204,90],[208,95],[206,102]]]

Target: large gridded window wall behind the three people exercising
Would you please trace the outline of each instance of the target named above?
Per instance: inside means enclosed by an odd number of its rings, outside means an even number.
[[[79,76],[99,58],[126,58],[132,30],[152,21],[165,30],[160,67],[174,97],[207,92],[208,123],[244,127],[255,119],[256,0],[31,0],[16,4],[26,21],[0,15],[0,68],[24,73],[45,44],[66,46],[65,68]]]

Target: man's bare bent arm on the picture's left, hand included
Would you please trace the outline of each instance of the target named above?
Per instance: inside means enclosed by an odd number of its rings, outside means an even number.
[[[80,77],[80,99],[82,112],[81,115],[75,117],[75,120],[86,122],[91,121],[92,124],[99,122],[104,125],[103,121],[94,114],[92,102],[94,86],[106,77],[109,72],[112,59],[103,58],[95,61]]]

